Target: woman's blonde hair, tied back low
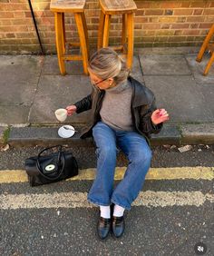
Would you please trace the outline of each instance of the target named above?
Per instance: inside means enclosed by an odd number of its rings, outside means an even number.
[[[113,78],[115,84],[126,80],[130,74],[125,61],[111,48],[101,48],[92,54],[88,70],[102,79]]]

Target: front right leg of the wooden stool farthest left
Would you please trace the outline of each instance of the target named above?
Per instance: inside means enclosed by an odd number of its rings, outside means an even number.
[[[88,67],[88,51],[87,51],[85,34],[84,34],[82,15],[79,13],[76,13],[75,21],[76,21],[77,30],[80,37],[80,43],[81,43],[81,52],[83,56],[83,70],[84,70],[84,74],[88,74],[88,68],[87,68]]]

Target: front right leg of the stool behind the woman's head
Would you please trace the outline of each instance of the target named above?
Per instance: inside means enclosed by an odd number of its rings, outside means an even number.
[[[127,14],[128,54],[127,67],[131,69],[133,60],[133,14]]]

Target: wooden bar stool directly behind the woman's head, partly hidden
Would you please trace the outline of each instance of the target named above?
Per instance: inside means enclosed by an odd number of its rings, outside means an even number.
[[[122,15],[122,45],[112,47],[127,54],[127,67],[131,69],[133,60],[133,14],[137,6],[132,0],[99,0],[101,5],[100,25],[98,31],[98,49],[108,47],[109,29],[112,15]],[[126,33],[127,31],[127,33]],[[128,49],[125,44],[128,37]]]

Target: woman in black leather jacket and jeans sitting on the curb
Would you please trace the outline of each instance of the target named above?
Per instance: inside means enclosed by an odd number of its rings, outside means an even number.
[[[92,94],[66,109],[68,115],[92,109],[92,121],[82,134],[82,138],[92,135],[97,148],[97,174],[88,201],[100,206],[98,236],[105,239],[112,227],[119,238],[125,228],[123,212],[131,209],[151,165],[150,134],[159,133],[169,115],[156,109],[151,90],[129,76],[126,64],[112,49],[92,54],[88,70]],[[129,165],[113,190],[117,147]]]

